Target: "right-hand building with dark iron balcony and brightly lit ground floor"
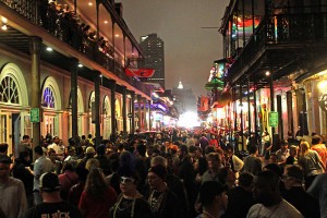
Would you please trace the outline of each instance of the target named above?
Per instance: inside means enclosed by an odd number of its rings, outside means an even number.
[[[230,1],[220,32],[234,130],[280,138],[327,134],[326,3]]]

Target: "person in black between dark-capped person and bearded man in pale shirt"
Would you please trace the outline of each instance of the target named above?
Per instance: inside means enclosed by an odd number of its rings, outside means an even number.
[[[253,198],[253,179],[250,172],[242,172],[239,186],[228,192],[228,205],[225,218],[245,218],[249,209],[255,204]]]

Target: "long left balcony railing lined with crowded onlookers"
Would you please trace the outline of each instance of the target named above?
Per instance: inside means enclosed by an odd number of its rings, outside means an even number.
[[[49,34],[66,43],[84,53],[88,59],[150,96],[150,89],[146,85],[134,77],[125,75],[123,66],[113,59],[114,49],[108,44],[104,45],[101,44],[104,41],[90,37],[89,29],[86,29],[87,24],[83,24],[83,26],[78,24],[74,14],[58,11],[56,4],[48,4],[48,1],[0,0],[0,2],[5,3],[31,22],[41,26]]]

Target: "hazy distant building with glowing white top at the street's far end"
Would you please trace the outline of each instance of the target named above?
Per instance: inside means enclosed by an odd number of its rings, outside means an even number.
[[[196,112],[196,98],[192,88],[185,87],[182,82],[179,82],[178,87],[172,88],[174,106],[180,114],[184,112]]]

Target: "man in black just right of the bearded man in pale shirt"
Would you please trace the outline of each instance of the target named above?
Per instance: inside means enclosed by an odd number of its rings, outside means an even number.
[[[292,204],[305,218],[320,217],[319,203],[303,189],[304,173],[300,166],[290,165],[282,174],[286,192],[283,198]]]

